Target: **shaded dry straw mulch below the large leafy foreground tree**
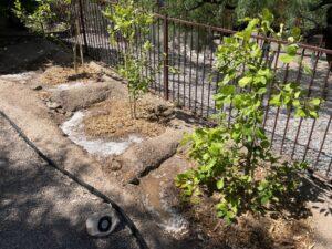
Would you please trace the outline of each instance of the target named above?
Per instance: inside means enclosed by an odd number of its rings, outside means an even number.
[[[305,219],[246,214],[237,224],[227,226],[216,217],[209,200],[191,207],[193,211],[184,208],[193,229],[204,238],[205,249],[309,249],[313,245],[312,230]]]

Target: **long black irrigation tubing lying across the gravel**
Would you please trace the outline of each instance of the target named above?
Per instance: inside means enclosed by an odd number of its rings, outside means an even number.
[[[79,184],[80,186],[84,187],[85,189],[87,189],[91,194],[100,197],[101,199],[103,199],[105,203],[111,204],[112,207],[117,211],[117,214],[122,217],[122,219],[126,222],[126,225],[128,226],[128,228],[131,229],[133,236],[135,237],[138,246],[141,249],[148,249],[148,246],[145,241],[145,239],[143,238],[143,236],[141,235],[139,230],[136,228],[135,224],[133,222],[133,220],[125,214],[125,211],[116,204],[114,203],[114,200],[112,200],[110,197],[107,197],[106,195],[104,195],[103,193],[101,193],[100,190],[97,190],[96,188],[94,188],[93,186],[91,186],[90,184],[86,184],[85,181],[83,181],[82,179],[80,179],[79,177],[74,176],[73,174],[71,174],[70,172],[59,167],[59,165],[56,165],[55,162],[53,162],[52,159],[50,159],[48,156],[45,156],[28,137],[27,135],[22,132],[22,129],[7,115],[4,114],[1,110],[0,110],[0,115],[7,120],[9,122],[9,124],[15,129],[15,132],[20,135],[20,137],[23,138],[23,141],[43,159],[45,160],[50,166],[52,166],[53,168],[55,168],[56,170],[59,170],[60,173],[62,173],[63,175],[68,176],[69,178],[71,178],[72,180],[74,180],[76,184]]]

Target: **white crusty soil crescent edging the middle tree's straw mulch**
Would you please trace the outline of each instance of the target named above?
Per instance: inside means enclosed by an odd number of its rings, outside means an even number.
[[[89,153],[98,156],[121,155],[133,143],[141,143],[139,136],[129,135],[127,138],[118,141],[90,139],[84,134],[83,120],[86,113],[79,111],[61,125],[61,129],[75,144],[82,146]]]

